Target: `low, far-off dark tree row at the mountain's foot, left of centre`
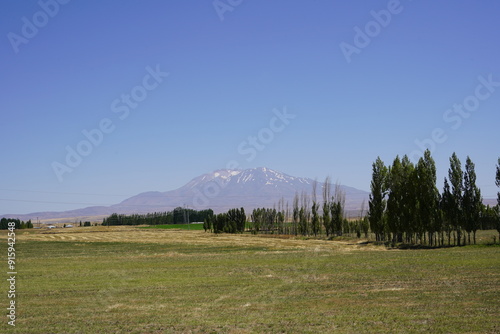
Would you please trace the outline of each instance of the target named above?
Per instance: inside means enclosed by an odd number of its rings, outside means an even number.
[[[154,212],[148,214],[124,215],[113,213],[103,219],[102,225],[166,225],[166,224],[185,224],[189,222],[202,222],[208,216],[213,216],[213,211],[193,210],[187,208],[175,208],[168,212]]]

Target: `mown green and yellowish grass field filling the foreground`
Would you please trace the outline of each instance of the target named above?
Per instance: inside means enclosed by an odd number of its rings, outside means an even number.
[[[97,227],[18,231],[17,257],[2,333],[500,332],[498,246]]]

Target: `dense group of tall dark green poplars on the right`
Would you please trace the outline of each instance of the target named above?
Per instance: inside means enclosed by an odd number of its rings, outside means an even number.
[[[500,233],[498,207],[484,206],[469,157],[463,171],[453,153],[442,193],[436,186],[436,166],[429,150],[416,165],[406,155],[397,156],[391,166],[378,158],[372,170],[368,219],[378,241],[436,246],[445,240],[451,245],[453,238],[453,244],[461,245],[471,244],[471,234],[476,243],[476,231],[483,227],[494,226]]]

